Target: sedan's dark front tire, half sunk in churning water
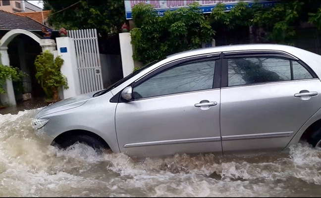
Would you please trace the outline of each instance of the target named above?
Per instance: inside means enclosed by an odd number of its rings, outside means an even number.
[[[102,154],[103,150],[105,149],[104,144],[102,141],[100,141],[97,138],[88,136],[88,135],[76,135],[76,136],[70,136],[64,141],[58,143],[58,147],[61,149],[66,149],[75,143],[82,143],[90,146],[93,148],[98,154]]]

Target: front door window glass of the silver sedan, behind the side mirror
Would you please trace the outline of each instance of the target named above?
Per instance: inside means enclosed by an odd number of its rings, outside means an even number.
[[[133,88],[135,99],[211,89],[215,60],[185,63],[166,69]]]

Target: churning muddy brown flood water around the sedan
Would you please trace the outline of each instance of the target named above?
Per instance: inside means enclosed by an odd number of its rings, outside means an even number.
[[[0,114],[1,197],[321,197],[321,151],[307,143],[272,156],[136,162],[81,144],[47,146],[31,126],[36,111]]]

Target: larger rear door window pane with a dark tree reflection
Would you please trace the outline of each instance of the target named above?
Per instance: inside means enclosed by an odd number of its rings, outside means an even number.
[[[228,86],[291,80],[289,59],[240,57],[228,59]]]

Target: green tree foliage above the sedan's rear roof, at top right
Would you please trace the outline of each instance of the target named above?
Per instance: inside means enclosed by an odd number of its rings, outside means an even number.
[[[227,38],[249,35],[249,26],[257,42],[294,44],[296,29],[303,22],[310,22],[318,27],[320,17],[313,14],[321,7],[321,1],[313,0],[280,0],[275,5],[263,6],[239,1],[229,12],[225,12],[223,3],[218,3],[210,15],[210,22],[216,36]],[[319,17],[319,18],[318,18]],[[235,32],[238,34],[235,35]],[[243,34],[243,35],[242,35]]]

